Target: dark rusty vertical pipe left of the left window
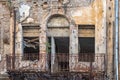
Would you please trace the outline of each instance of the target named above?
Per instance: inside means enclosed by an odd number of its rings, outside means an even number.
[[[12,53],[12,68],[15,69],[15,41],[16,41],[16,10],[14,8],[14,34],[13,34],[13,53]]]

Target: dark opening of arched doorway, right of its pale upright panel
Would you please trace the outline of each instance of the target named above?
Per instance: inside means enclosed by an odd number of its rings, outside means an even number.
[[[69,70],[69,38],[55,37],[56,55],[60,71]]]

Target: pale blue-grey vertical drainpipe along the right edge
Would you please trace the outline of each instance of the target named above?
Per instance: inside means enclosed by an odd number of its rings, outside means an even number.
[[[115,0],[115,80],[119,80],[119,0]]]

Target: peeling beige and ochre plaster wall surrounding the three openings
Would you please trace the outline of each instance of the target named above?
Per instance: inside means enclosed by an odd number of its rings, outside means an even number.
[[[66,0],[68,1],[68,0]],[[39,67],[40,70],[45,71],[47,69],[47,51],[46,51],[46,44],[47,44],[47,21],[51,15],[54,14],[62,14],[66,16],[70,22],[70,56],[78,55],[78,25],[95,25],[95,53],[96,55],[99,55],[99,53],[106,53],[106,3],[104,0],[94,0],[94,2],[90,3],[91,0],[86,0],[88,2],[80,2],[78,0],[71,1],[68,5],[68,8],[60,7],[61,4],[59,3],[52,3],[50,4],[50,1],[48,1],[48,4],[43,4],[44,1],[42,0],[14,0],[12,1],[12,5],[14,5],[17,10],[17,25],[16,25],[16,54],[22,56],[23,53],[23,46],[22,46],[22,26],[24,24],[32,24],[32,25],[38,25],[40,27],[39,31],[39,42],[40,42],[40,60],[39,60]],[[79,4],[79,3],[80,4]],[[54,5],[53,5],[54,4]],[[23,9],[23,7],[27,7],[27,10],[20,10]],[[56,5],[56,6],[55,6]],[[66,5],[66,4],[64,4]],[[76,6],[77,5],[77,6]],[[63,5],[62,5],[63,6]],[[5,7],[4,7],[5,8]],[[2,11],[3,10],[3,11]],[[12,32],[13,32],[13,17],[10,19],[9,11],[4,11],[6,9],[2,9],[1,11],[4,12],[2,17],[1,24],[10,24],[10,30],[11,30],[11,47],[9,47],[8,44],[5,44],[4,49],[6,49],[5,53],[8,53],[8,49],[10,48],[12,52]],[[7,16],[6,16],[7,15]],[[10,21],[8,20],[10,19]],[[7,22],[7,23],[6,23]],[[11,23],[9,23],[11,22]],[[5,29],[3,33],[5,35],[9,35],[7,32],[9,32],[8,25],[5,25]],[[2,33],[2,34],[3,34]],[[68,34],[67,34],[68,36]],[[9,37],[7,37],[9,39]],[[4,38],[3,38],[4,39]],[[7,40],[8,40],[7,39]],[[1,44],[3,42],[1,41]],[[1,49],[3,51],[4,49]],[[102,55],[102,54],[101,54]],[[18,61],[16,61],[18,63]],[[25,63],[24,61],[21,62],[19,60],[20,64]],[[29,63],[29,62],[28,62]],[[71,71],[76,71],[77,67],[80,67],[80,64],[78,62],[78,59],[70,57],[70,69]]]

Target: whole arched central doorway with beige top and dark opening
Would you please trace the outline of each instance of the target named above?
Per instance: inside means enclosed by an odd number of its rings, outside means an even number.
[[[60,14],[52,15],[47,23],[47,36],[50,48],[48,53],[51,53],[51,63],[58,64],[55,66],[51,64],[51,71],[59,68],[60,71],[69,70],[69,21]],[[57,57],[57,61],[54,57]],[[65,59],[62,60],[61,59]]]

